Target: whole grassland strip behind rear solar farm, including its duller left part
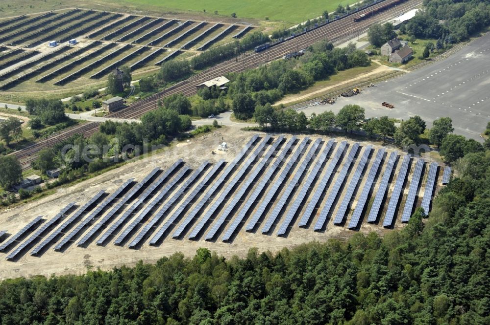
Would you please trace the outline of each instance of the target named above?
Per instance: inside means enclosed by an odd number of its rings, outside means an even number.
[[[172,16],[178,13],[192,13],[208,20],[219,20],[218,15],[231,17],[236,13],[237,21],[240,18],[253,18],[264,21],[269,17],[271,21],[288,23],[302,22],[303,18],[319,17],[323,10],[332,12],[339,3],[346,5],[357,0],[0,0],[0,18],[45,10],[61,9],[66,7],[94,8],[97,10],[123,11],[131,13],[148,12],[161,13],[162,16]],[[206,12],[204,12],[204,9]]]

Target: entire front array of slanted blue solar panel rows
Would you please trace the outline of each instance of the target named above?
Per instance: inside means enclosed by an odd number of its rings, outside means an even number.
[[[54,250],[61,251],[78,236],[81,239],[77,245],[84,246],[106,227],[97,244],[102,245],[116,236],[114,244],[124,245],[127,240],[129,248],[137,249],[151,236],[149,244],[158,245],[173,227],[176,229],[172,238],[182,238],[194,223],[195,227],[186,235],[189,239],[198,238],[210,227],[203,239],[213,240],[222,231],[221,240],[229,242],[242,225],[245,224],[245,231],[254,231],[260,222],[263,234],[271,233],[277,224],[277,236],[287,236],[297,215],[301,216],[298,226],[306,227],[315,220],[317,209],[318,218],[312,227],[315,231],[324,229],[330,215],[333,223],[339,225],[348,219],[351,211],[347,228],[356,229],[365,211],[369,210],[368,222],[376,221],[381,214],[398,152],[390,153],[383,171],[383,148],[374,155],[370,145],[365,146],[361,154],[359,142],[351,144],[347,151],[347,142],[336,145],[335,139],[330,139],[324,147],[322,139],[312,141],[308,136],[298,141],[297,136],[285,139],[284,135],[274,135],[270,141],[272,135],[266,134],[260,142],[259,139],[258,134],[253,135],[229,164],[221,159],[211,168],[211,163],[204,161],[192,171],[183,159],[178,159],[167,170],[153,169],[140,182],[134,182],[133,178],[125,181],[103,200],[105,191],[101,190],[76,210],[75,203],[69,203],[45,223],[42,217],[30,221],[4,242],[0,251],[6,252],[18,245],[6,256],[6,260],[15,261],[38,241],[30,255],[41,255],[50,244],[55,245]],[[396,210],[403,197],[411,160],[410,155],[404,155],[396,165],[398,173],[387,199],[384,227],[391,226],[395,212],[398,214]],[[418,186],[425,176],[422,174],[424,165],[423,159],[417,159],[413,166],[404,209],[400,213],[402,222],[411,217]],[[421,200],[426,216],[438,170],[438,163],[428,165]],[[444,169],[443,184],[447,184],[451,172],[449,166]],[[378,173],[381,180],[376,188]],[[372,204],[369,203],[368,209],[369,199]],[[352,201],[356,202],[355,207]],[[84,215],[87,217],[82,220]],[[0,231],[0,237],[4,234],[5,231]]]

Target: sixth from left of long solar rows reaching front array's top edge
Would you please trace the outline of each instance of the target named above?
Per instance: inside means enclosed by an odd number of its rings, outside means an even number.
[[[262,227],[262,233],[267,234],[270,232],[270,227],[274,224],[274,222],[277,220],[277,217],[279,214],[282,212],[284,205],[286,204],[286,201],[288,198],[291,196],[291,194],[294,192],[294,188],[298,185],[299,179],[302,177],[304,171],[306,170],[306,167],[312,161],[312,159],[315,159],[314,154],[317,151],[319,145],[320,145],[321,139],[316,139],[315,142],[313,142],[313,145],[310,147],[310,150],[306,154],[305,158],[301,162],[301,165],[298,167],[298,169],[294,172],[294,176],[289,182],[288,186],[283,192],[283,195],[281,195],[281,198],[279,201],[274,206],[274,209],[270,213],[269,217],[266,219],[266,222],[264,223],[264,226]]]

